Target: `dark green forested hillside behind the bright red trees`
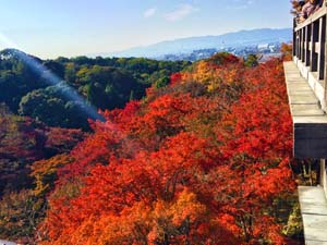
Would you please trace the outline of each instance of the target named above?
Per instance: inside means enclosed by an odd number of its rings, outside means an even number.
[[[49,126],[89,130],[84,108],[123,108],[141,99],[145,89],[169,83],[172,73],[190,62],[143,58],[40,60],[20,50],[0,52],[0,103],[20,115]],[[81,95],[84,101],[76,100]],[[92,118],[95,119],[95,118]]]

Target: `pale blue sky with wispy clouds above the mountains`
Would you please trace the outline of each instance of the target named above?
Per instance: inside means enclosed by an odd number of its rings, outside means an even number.
[[[0,9],[0,49],[40,58],[292,23],[288,0],[2,0]]]

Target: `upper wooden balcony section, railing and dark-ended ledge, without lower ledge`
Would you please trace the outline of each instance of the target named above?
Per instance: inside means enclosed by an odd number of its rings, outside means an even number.
[[[293,62],[284,63],[294,157],[327,159],[327,8],[294,25]]]

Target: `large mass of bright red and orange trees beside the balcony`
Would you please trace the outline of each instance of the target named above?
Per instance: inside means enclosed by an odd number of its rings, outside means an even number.
[[[246,68],[217,54],[104,114],[57,159],[39,244],[289,242],[274,213],[294,191],[280,60]],[[37,169],[41,192],[47,175]]]

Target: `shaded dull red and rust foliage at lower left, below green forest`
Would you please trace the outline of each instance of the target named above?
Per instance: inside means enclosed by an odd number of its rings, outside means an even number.
[[[48,127],[0,105],[0,237],[34,244],[57,170],[82,140],[81,130]],[[26,243],[25,243],[26,242]]]

